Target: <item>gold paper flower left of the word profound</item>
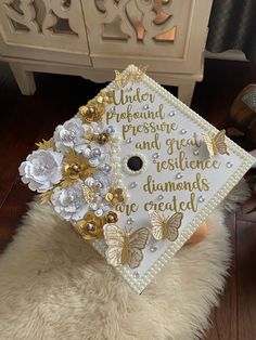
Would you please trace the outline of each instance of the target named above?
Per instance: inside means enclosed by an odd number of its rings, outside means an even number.
[[[91,100],[85,106],[79,107],[79,114],[82,116],[82,122],[91,123],[92,121],[101,122],[105,113],[105,103],[99,103]]]

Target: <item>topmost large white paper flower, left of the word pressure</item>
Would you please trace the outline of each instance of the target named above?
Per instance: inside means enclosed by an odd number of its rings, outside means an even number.
[[[81,152],[87,147],[84,135],[88,129],[89,126],[82,125],[79,118],[72,118],[65,121],[63,126],[57,126],[53,135],[56,149],[64,153],[68,147],[72,147],[78,153]]]

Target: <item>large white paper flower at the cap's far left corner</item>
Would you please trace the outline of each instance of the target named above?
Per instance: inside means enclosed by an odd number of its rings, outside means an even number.
[[[38,193],[51,189],[62,179],[62,159],[63,155],[51,148],[34,152],[18,168],[22,181]]]

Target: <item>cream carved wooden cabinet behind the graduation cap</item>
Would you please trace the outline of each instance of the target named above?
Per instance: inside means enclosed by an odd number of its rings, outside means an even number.
[[[190,104],[203,78],[212,0],[2,0],[0,58],[24,94],[33,71],[113,79],[113,69],[149,65]]]

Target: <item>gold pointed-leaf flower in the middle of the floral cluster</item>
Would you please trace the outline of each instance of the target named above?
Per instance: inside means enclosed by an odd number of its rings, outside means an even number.
[[[65,155],[65,160],[62,167],[62,174],[64,180],[62,181],[62,187],[73,184],[78,179],[85,180],[91,176],[97,167],[92,167],[89,160],[81,155],[78,155],[74,149],[69,148]]]

